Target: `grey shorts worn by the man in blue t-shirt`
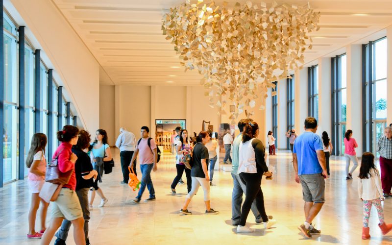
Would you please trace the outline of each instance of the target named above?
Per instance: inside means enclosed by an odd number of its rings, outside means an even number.
[[[302,195],[307,202],[325,202],[325,180],[321,173],[299,175]]]

